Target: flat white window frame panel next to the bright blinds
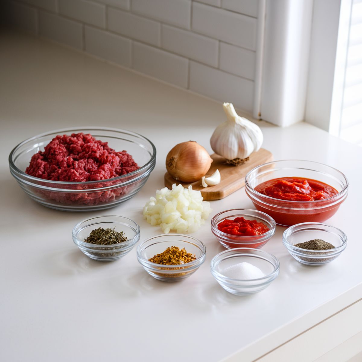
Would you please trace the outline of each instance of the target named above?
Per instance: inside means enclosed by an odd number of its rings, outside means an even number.
[[[313,5],[305,120],[335,136],[340,133],[352,2],[315,0]]]

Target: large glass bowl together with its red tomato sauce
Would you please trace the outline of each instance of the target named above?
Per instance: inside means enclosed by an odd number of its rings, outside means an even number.
[[[258,186],[269,183],[271,194],[274,190],[279,192],[277,187],[273,188],[277,180],[287,180],[286,188],[281,193],[281,197],[285,199],[271,197],[256,190]],[[303,181],[298,182],[299,180]],[[323,194],[323,198],[301,201],[308,198],[310,186],[306,181],[311,185],[312,194],[317,197]],[[245,192],[257,210],[270,215],[279,225],[291,226],[304,222],[324,222],[331,218],[347,197],[348,180],[342,172],[318,162],[272,161],[247,173]],[[289,195],[292,195],[291,199],[287,199]]]

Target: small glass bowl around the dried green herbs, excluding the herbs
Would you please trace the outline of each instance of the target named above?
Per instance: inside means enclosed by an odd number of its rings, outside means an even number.
[[[127,240],[123,241],[123,243],[112,245],[97,245],[84,241],[90,232],[98,227],[105,229],[114,228],[114,230],[118,232],[123,231]],[[134,221],[123,216],[98,216],[76,224],[73,228],[72,236],[74,244],[91,259],[113,261],[125,256],[131,251],[139,240],[140,228]]]

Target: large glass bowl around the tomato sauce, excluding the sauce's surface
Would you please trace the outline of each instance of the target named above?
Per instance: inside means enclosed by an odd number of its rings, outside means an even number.
[[[263,195],[254,188],[279,177],[305,177],[334,187],[338,194],[316,201],[287,201]],[[270,215],[277,224],[291,226],[324,222],[333,216],[348,193],[348,180],[337,169],[313,161],[282,160],[253,168],[245,177],[245,191],[257,210]]]

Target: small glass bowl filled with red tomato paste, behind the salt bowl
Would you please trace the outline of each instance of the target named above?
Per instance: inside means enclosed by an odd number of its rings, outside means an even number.
[[[241,219],[240,223],[237,220]],[[248,221],[252,221],[248,223]],[[234,221],[235,223],[230,223]],[[239,226],[237,225],[239,224]],[[235,225],[236,227],[233,227]],[[223,227],[224,226],[224,227]],[[224,231],[220,230],[223,229]],[[211,220],[211,231],[218,238],[220,244],[231,248],[259,249],[275,233],[275,221],[264,212],[250,209],[232,209],[219,212]],[[262,233],[260,233],[262,232]],[[253,234],[259,235],[253,235]],[[241,234],[241,235],[237,235]]]

